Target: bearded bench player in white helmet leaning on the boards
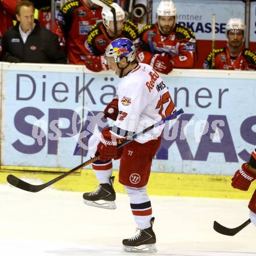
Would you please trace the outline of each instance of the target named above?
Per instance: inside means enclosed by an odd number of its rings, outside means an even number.
[[[195,63],[194,34],[176,24],[176,16],[175,4],[161,1],[157,8],[157,23],[144,26],[140,32],[138,61],[164,74],[168,74],[173,67],[193,68]]]

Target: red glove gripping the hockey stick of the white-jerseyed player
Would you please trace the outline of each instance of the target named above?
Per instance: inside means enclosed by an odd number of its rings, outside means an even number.
[[[118,143],[110,130],[111,127],[107,127],[101,131],[101,141],[98,144],[96,155],[99,155],[102,162],[118,158]]]

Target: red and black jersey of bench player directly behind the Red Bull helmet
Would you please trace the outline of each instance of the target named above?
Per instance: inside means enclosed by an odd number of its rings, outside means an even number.
[[[138,27],[129,20],[125,22],[120,37],[128,38],[138,48],[140,42]],[[87,49],[91,54],[100,56],[105,53],[105,49],[111,41],[113,41],[113,38],[109,37],[104,24],[102,22],[97,23],[89,31]]]

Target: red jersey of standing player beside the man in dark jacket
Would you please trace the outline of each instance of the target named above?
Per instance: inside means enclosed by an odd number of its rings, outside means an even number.
[[[88,31],[101,22],[102,8],[89,9],[82,1],[67,1],[61,9],[65,20],[67,58],[70,64],[84,65]]]

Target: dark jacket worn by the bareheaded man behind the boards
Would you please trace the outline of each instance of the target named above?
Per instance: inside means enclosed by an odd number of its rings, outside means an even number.
[[[40,27],[35,20],[35,28],[24,44],[20,35],[19,24],[11,27],[3,35],[2,61],[66,63],[66,54],[59,45],[57,35]]]

